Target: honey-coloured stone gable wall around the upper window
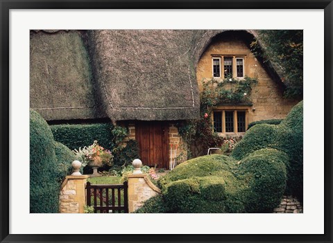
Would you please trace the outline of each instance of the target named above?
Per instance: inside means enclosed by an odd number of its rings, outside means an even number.
[[[288,100],[282,97],[280,84],[268,75],[244,40],[237,35],[217,39],[200,57],[196,68],[200,91],[202,91],[202,82],[212,79],[213,55],[244,56],[244,74],[250,78],[257,78],[258,84],[253,87],[251,95],[253,107],[248,109],[248,123],[256,120],[285,118],[291,107],[298,103],[299,100]],[[223,72],[223,62],[221,62],[221,72]]]

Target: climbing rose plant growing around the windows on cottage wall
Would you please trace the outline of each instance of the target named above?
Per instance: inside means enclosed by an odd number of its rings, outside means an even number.
[[[213,132],[212,109],[224,104],[251,103],[250,94],[256,78],[245,77],[243,80],[225,78],[203,81],[200,93],[200,118],[178,124],[179,133],[186,141],[188,159],[204,155],[208,147],[221,147],[225,138]]]

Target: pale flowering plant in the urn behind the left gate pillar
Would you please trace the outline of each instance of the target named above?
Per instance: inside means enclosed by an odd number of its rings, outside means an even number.
[[[76,155],[76,159],[82,163],[83,167],[89,162],[93,162],[97,157],[101,158],[102,164],[108,165],[111,165],[113,159],[110,150],[105,150],[96,140],[89,147],[83,147],[83,149],[79,147],[78,150],[73,150],[73,152]]]

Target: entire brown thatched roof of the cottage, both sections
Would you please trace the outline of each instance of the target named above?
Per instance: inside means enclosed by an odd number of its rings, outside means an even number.
[[[198,118],[196,64],[223,32],[32,31],[31,107],[46,120]]]

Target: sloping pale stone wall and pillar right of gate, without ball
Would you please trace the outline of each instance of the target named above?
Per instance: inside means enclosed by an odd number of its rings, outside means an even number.
[[[161,193],[149,179],[147,174],[128,175],[128,211],[133,213],[144,201]]]

